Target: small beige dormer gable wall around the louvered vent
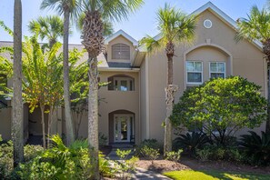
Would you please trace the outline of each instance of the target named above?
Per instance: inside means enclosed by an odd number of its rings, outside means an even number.
[[[115,45],[118,43],[123,43],[125,45],[130,46],[130,59],[126,59],[126,60],[112,59],[112,45]],[[135,46],[129,40],[127,40],[123,35],[119,35],[114,40],[110,41],[109,44],[106,45],[106,50],[108,54],[107,56],[108,62],[130,63],[130,61],[133,60],[135,56]]]

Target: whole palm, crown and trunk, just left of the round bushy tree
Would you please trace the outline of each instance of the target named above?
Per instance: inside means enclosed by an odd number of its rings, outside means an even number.
[[[173,85],[173,57],[175,45],[190,42],[195,37],[196,17],[187,16],[180,10],[165,4],[157,11],[157,29],[159,39],[147,35],[141,43],[149,52],[165,49],[167,56],[167,86],[165,87],[165,142],[164,153],[172,150],[172,125],[169,116],[172,114],[177,85]]]

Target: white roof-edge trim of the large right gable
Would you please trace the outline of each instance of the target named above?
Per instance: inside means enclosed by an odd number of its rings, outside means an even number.
[[[206,3],[205,5],[196,9],[190,15],[200,15],[203,12],[205,12],[206,10],[209,10],[210,12],[212,12],[214,15],[219,17],[226,25],[231,26],[233,29],[235,29],[235,31],[237,31],[238,26],[237,26],[237,23],[235,22],[235,20],[232,19],[229,15],[226,15],[222,10],[220,10],[217,6],[215,6],[210,1],[208,3]],[[155,38],[155,40],[159,40],[161,38],[161,35],[155,35],[154,38]],[[252,44],[255,45],[257,48],[259,48],[260,50],[263,50],[263,45],[259,41],[254,40],[252,42]],[[147,52],[147,50],[143,46],[140,48],[140,51]]]

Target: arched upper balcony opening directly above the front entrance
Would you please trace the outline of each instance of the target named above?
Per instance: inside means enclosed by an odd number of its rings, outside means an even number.
[[[108,78],[108,90],[115,91],[134,91],[135,81],[134,78],[127,75],[115,75]]]

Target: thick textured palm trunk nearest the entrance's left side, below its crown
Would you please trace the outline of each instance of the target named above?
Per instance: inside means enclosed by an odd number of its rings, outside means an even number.
[[[98,80],[97,58],[89,55],[89,96],[88,96],[88,143],[90,146],[91,164],[94,179],[99,179],[98,163]]]

